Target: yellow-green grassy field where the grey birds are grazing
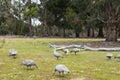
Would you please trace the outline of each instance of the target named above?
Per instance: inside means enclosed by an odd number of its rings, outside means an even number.
[[[106,51],[84,51],[77,55],[69,53],[58,61],[53,56],[53,48],[48,46],[53,42],[92,42],[103,39],[5,39],[0,48],[0,80],[120,80],[120,60],[106,59]],[[4,41],[3,41],[4,42]],[[2,45],[2,39],[0,42]],[[18,51],[16,59],[9,56],[9,49]],[[112,52],[114,55],[119,52]],[[25,59],[34,60],[38,69],[27,70],[20,63]],[[66,65],[71,73],[52,76],[57,64]]]

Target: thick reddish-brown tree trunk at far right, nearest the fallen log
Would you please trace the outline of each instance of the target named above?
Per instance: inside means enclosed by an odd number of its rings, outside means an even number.
[[[106,35],[106,41],[108,42],[117,42],[117,27],[119,24],[119,14],[116,12],[115,5],[112,4],[112,2],[109,1],[108,3],[108,21],[107,21],[107,35]]]

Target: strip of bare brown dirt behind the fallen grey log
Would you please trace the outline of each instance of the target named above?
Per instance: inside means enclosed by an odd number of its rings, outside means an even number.
[[[55,45],[86,45],[89,47],[93,47],[93,48],[100,48],[100,47],[104,47],[104,48],[112,48],[112,47],[120,47],[120,42],[73,42],[73,43],[65,43],[65,42],[56,42],[56,43],[52,43]]]

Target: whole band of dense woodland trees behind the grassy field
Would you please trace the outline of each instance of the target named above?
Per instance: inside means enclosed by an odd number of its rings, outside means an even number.
[[[117,41],[119,23],[119,0],[0,0],[0,35]]]

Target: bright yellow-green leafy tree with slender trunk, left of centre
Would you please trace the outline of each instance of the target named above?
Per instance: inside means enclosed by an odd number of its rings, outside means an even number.
[[[32,25],[32,19],[38,17],[38,5],[31,0],[23,0],[23,2],[25,4],[24,11],[22,11],[23,19],[25,23],[29,24],[29,36],[33,36],[34,27]]]

